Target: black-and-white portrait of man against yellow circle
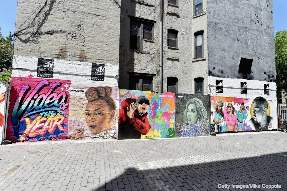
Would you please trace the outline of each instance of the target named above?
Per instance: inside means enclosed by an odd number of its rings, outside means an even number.
[[[254,99],[250,108],[249,125],[253,130],[268,130],[272,128],[273,118],[270,116],[270,106],[263,97]]]

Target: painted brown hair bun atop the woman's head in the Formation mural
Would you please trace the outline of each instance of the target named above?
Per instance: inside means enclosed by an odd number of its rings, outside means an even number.
[[[89,89],[87,89],[85,95],[88,101],[92,102],[98,98],[109,97],[110,95],[112,95],[112,88],[108,86],[90,87]]]

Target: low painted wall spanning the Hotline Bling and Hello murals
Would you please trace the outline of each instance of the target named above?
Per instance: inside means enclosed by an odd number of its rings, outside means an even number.
[[[209,100],[208,95],[121,89],[118,138],[210,135]]]

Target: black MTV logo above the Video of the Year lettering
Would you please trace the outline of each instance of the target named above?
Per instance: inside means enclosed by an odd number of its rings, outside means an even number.
[[[53,78],[54,59],[38,58],[37,77]]]

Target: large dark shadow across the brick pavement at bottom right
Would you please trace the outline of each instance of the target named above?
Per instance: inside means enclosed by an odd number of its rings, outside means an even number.
[[[227,153],[228,154],[228,153]],[[240,153],[238,153],[240,155]],[[258,157],[199,163],[177,164],[175,167],[138,170],[129,168],[116,179],[99,185],[98,190],[218,190],[218,184],[256,184],[262,186],[280,184],[287,190],[287,152]],[[261,187],[262,190],[265,190]],[[219,190],[228,190],[219,189]]]

